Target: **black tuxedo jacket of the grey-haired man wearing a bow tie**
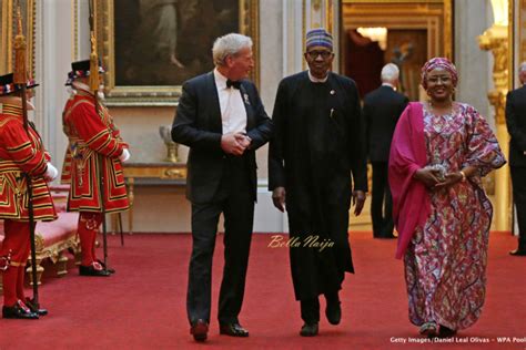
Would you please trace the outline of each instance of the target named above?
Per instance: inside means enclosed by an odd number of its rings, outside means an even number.
[[[255,150],[264,145],[272,133],[272,121],[263,107],[257,90],[247,80],[240,92],[246,109],[246,135],[252,143],[242,157],[249,169],[256,198]],[[183,92],[172,125],[172,138],[190,147],[188,158],[186,197],[196,204],[210,203],[218,189],[227,155],[221,148],[221,107],[213,72],[195,76],[183,84]]]

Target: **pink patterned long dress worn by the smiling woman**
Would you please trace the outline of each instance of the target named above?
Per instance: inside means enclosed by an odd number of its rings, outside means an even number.
[[[455,103],[448,115],[424,105],[424,135],[429,165],[447,172],[472,165],[478,174],[429,192],[431,216],[416,227],[404,258],[409,320],[464,329],[479,318],[486,292],[493,207],[481,178],[506,161],[484,117],[467,104]]]

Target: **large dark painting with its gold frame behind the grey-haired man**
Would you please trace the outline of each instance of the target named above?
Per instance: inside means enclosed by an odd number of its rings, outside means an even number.
[[[98,0],[109,105],[176,105],[188,79],[213,69],[215,38],[240,32],[259,56],[259,0]],[[251,79],[259,82],[257,63]]]

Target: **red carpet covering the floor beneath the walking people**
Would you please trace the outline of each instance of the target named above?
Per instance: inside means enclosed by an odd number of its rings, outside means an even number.
[[[251,332],[245,339],[219,336],[215,315],[223,265],[219,236],[214,307],[205,344],[192,340],[186,322],[190,235],[134,235],[125,237],[125,247],[120,246],[119,237],[110,237],[110,262],[117,269],[111,278],[79,277],[73,267],[64,278],[54,278],[49,267],[41,301],[50,315],[36,321],[0,319],[0,349],[419,347],[414,342],[424,339],[407,320],[402,261],[393,258],[395,241],[371,236],[351,235],[356,275],[345,280],[342,323],[330,326],[323,318],[315,338],[297,334],[302,321],[293,297],[287,249],[269,248],[271,235],[254,235],[253,239],[241,315],[242,325]],[[427,343],[425,348],[526,349],[526,258],[508,256],[515,243],[509,234],[492,234],[487,298],[481,320],[459,332],[455,342]]]

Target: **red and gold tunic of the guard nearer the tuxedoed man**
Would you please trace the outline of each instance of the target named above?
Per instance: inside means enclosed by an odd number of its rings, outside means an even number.
[[[93,94],[77,87],[62,116],[69,138],[62,169],[62,183],[71,184],[68,210],[102,212],[99,167],[104,176],[105,212],[127,210],[128,193],[119,156],[128,144],[122,141],[108,110],[99,104],[97,113]]]

